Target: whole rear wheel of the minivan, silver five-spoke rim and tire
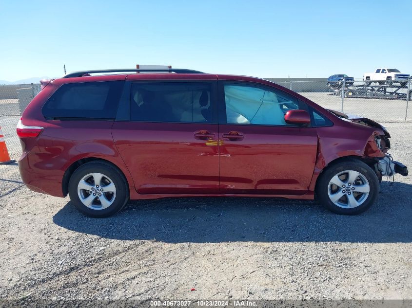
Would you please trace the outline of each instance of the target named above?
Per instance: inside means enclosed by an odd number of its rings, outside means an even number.
[[[70,178],[72,204],[90,217],[108,217],[120,211],[129,199],[124,175],[110,163],[82,164]]]

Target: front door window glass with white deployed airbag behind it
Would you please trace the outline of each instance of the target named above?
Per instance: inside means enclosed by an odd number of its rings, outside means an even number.
[[[225,105],[228,124],[293,126],[285,122],[291,109],[307,109],[293,96],[276,89],[226,83]]]

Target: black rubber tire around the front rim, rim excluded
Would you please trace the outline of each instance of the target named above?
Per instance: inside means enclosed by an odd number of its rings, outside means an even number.
[[[335,175],[338,175],[346,170],[351,170],[351,171],[357,171],[359,172],[364,178],[369,183],[369,195],[363,200],[363,203],[361,203],[359,206],[352,207],[352,208],[344,208],[336,205],[329,197],[329,190],[331,189],[329,187],[329,183],[334,178]],[[345,175],[343,175],[344,177]],[[362,181],[361,178],[357,178],[356,181]],[[338,186],[336,186],[338,187]],[[356,186],[352,186],[353,187]],[[348,189],[348,185],[346,185],[345,188],[338,188],[337,190],[340,191],[342,189],[345,190],[346,194],[351,195],[352,192],[349,191],[347,192],[346,190]],[[356,192],[355,192],[356,193]],[[353,193],[354,198],[360,198],[363,197],[362,193],[356,193],[357,196],[355,197],[355,193]],[[375,172],[372,170],[370,166],[368,166],[366,163],[363,163],[360,160],[356,159],[348,159],[345,161],[341,161],[339,163],[334,163],[327,167],[325,171],[322,172],[320,175],[319,181],[317,182],[316,185],[316,195],[319,201],[330,211],[336,213],[336,214],[341,214],[341,215],[356,215],[365,212],[368,210],[373,203],[376,201],[379,195],[379,181],[378,178],[375,174]],[[343,199],[339,200],[345,200],[345,198],[348,198],[350,196],[346,195],[345,197],[342,197]],[[339,203],[339,200],[337,201]],[[349,205],[349,200],[347,199],[347,203]]]

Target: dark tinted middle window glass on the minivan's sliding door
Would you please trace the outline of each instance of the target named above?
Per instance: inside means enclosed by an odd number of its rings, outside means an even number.
[[[210,83],[134,83],[130,118],[142,122],[212,122]]]

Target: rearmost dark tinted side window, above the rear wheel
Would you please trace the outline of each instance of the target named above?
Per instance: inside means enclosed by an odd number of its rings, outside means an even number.
[[[64,84],[44,104],[43,115],[46,119],[115,119],[122,84],[122,81]]]

